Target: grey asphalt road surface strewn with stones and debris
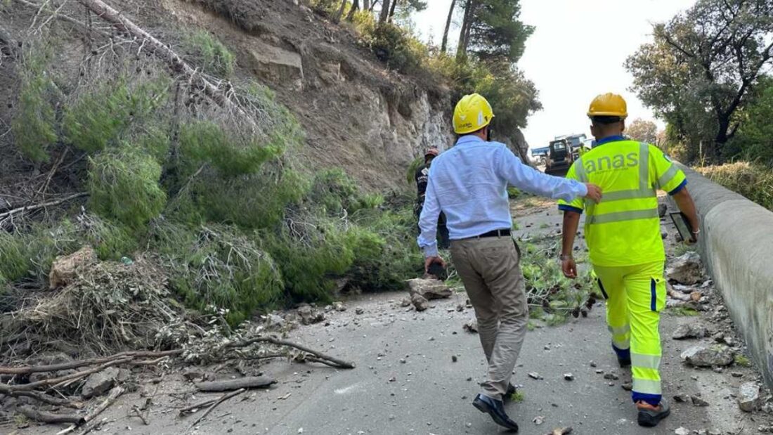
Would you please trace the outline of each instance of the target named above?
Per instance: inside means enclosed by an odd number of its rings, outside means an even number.
[[[522,238],[560,229],[556,224],[561,217],[553,206],[534,202],[530,210],[524,212],[522,207],[519,211],[518,236]],[[471,405],[485,365],[478,336],[462,328],[473,318],[465,294],[459,291],[448,299],[432,301],[432,308],[423,312],[400,306],[406,295],[352,299],[346,302],[346,311],[329,312],[325,323],[289,332],[288,337],[296,342],[356,362],[356,369],[268,363],[262,370],[276,377],[277,385],[230,399],[196,426],[192,423],[200,412],[180,418],[177,410],[208,396],[194,395],[181,370],[168,370],[158,384],[141,382],[138,391],[124,395],[100,416],[105,423],[93,433],[502,433],[489,416]],[[725,328],[725,335],[733,336],[724,325],[713,322],[723,311],[718,296],[710,297],[712,303],[700,316],[665,314],[661,324],[665,395],[700,396],[708,406],[696,406],[689,397],[686,403],[672,399],[673,414],[659,427],[638,427],[630,393],[622,388],[630,382],[630,370],[618,368],[603,305],[596,304],[587,318],[570,318],[557,327],[537,324],[527,335],[513,377],[523,400],[506,406],[520,424],[520,433],[542,435],[572,427],[572,433],[587,435],[738,434],[758,433],[758,427],[769,426],[767,414],[743,413],[735,399],[742,382],[759,379],[753,368],[735,365],[721,371],[699,370],[679,358],[685,348],[699,342],[673,340],[671,335],[681,324],[699,322],[717,330]],[[457,311],[458,305],[462,311]],[[532,379],[530,372],[538,379]],[[574,380],[564,379],[567,373]],[[152,404],[145,425],[132,407],[142,406],[148,398]],[[680,428],[687,432],[677,431]],[[18,433],[57,433],[61,429],[28,427]]]

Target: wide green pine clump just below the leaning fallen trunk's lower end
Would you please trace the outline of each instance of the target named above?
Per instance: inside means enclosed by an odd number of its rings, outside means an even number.
[[[255,137],[235,138],[209,121],[182,126],[179,141],[186,158],[211,163],[222,175],[254,174],[284,151],[275,144],[260,143]]]

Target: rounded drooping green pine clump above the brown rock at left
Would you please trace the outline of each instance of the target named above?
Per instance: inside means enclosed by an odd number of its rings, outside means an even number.
[[[161,165],[150,155],[124,145],[90,158],[88,188],[94,212],[132,229],[158,216],[166,193],[158,185]]]

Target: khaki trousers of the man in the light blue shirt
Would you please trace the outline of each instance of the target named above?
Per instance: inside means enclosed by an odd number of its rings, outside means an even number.
[[[453,240],[451,258],[475,308],[489,362],[482,393],[502,399],[529,321],[519,250],[510,236]]]

